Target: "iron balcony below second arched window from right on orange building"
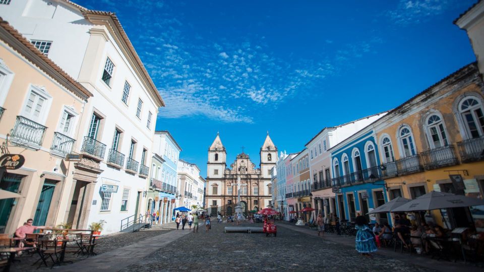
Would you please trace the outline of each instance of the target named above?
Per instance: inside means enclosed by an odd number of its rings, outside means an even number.
[[[443,146],[420,153],[423,169],[431,170],[456,165],[459,162],[455,156],[454,146]]]

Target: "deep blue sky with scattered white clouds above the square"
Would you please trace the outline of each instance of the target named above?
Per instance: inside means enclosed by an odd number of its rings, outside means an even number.
[[[115,12],[166,102],[156,128],[206,176],[220,131],[229,165],[259,164],[266,131],[296,152],[321,128],[392,109],[475,60],[452,22],[475,0],[82,0]]]

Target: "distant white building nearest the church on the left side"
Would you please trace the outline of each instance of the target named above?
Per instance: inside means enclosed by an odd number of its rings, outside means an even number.
[[[205,179],[200,176],[200,168],[196,164],[181,159],[178,161],[178,188],[180,207],[203,207]]]

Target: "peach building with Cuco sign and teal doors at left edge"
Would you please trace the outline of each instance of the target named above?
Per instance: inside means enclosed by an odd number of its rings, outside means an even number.
[[[78,124],[91,96],[0,18],[2,155],[25,158],[18,169],[0,168],[0,188],[21,195],[0,199],[0,233],[13,234],[29,218],[37,226],[63,222],[74,169],[66,155],[80,140]]]

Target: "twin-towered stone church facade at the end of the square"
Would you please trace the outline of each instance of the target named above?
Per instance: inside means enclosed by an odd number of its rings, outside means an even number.
[[[259,168],[256,168],[244,151],[236,156],[228,168],[227,152],[217,133],[208,149],[205,207],[210,215],[216,216],[219,212],[224,216],[233,215],[237,205],[238,188],[244,215],[272,204],[271,169],[277,162],[277,147],[269,133],[259,155]],[[240,183],[237,181],[238,178]]]

